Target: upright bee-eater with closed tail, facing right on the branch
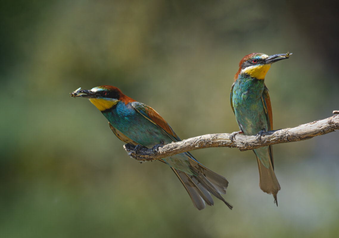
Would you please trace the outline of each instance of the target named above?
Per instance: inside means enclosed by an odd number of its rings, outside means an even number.
[[[268,56],[252,53],[240,61],[231,88],[231,106],[240,131],[232,133],[231,140],[239,133],[257,135],[260,140],[263,132],[273,129],[271,100],[264,79],[272,63],[286,59],[291,54]],[[274,202],[278,206],[277,193],[280,185],[274,173],[272,146],[260,147],[253,151],[259,167],[259,186],[262,191],[273,194]]]

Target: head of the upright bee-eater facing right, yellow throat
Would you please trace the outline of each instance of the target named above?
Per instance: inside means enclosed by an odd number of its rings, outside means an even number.
[[[239,75],[249,75],[256,79],[264,79],[267,71],[270,69],[271,64],[274,62],[287,59],[292,53],[274,54],[268,56],[263,53],[252,53],[242,58],[239,63],[239,70],[234,76],[235,80]]]

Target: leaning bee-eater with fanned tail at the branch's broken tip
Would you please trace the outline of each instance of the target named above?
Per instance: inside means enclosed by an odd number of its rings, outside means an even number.
[[[124,95],[113,86],[99,86],[91,90],[76,90],[73,97],[88,98],[106,117],[114,134],[123,142],[147,148],[180,141],[167,122],[150,106]],[[227,180],[200,164],[189,152],[160,160],[171,166],[190,195],[194,206],[201,210],[205,204],[214,204],[211,194],[227,203]],[[211,194],[210,194],[211,193]]]

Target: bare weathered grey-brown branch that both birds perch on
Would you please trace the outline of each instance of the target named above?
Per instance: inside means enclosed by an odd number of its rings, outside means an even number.
[[[333,113],[339,113],[339,111],[333,111]],[[152,148],[148,149],[146,147],[137,148],[137,150],[135,150],[135,146],[131,144],[125,144],[124,148],[129,156],[138,161],[152,161],[186,151],[209,147],[237,147],[241,151],[256,149],[267,145],[307,140],[315,136],[334,132],[334,130],[337,129],[339,129],[339,115],[334,115],[323,120],[299,125],[294,128],[265,132],[259,141],[256,139],[256,136],[236,135],[236,138],[232,142],[230,139],[231,134],[224,133],[207,134],[179,142],[172,142],[159,146],[157,150]]]

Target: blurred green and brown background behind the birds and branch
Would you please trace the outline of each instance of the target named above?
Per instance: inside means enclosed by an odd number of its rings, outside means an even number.
[[[266,75],[274,128],[339,110],[338,14],[321,1],[2,1],[1,237],[336,237],[338,132],[274,146],[279,207],[252,151],[193,151],[230,182],[198,211],[173,172],[129,158],[82,87],[114,85],[180,138],[238,130],[241,58],[293,52]]]

